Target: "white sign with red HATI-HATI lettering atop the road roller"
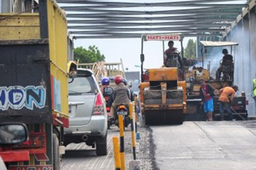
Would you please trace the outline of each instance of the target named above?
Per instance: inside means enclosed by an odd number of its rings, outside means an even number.
[[[146,41],[180,41],[181,37],[179,34],[151,34],[146,35]]]

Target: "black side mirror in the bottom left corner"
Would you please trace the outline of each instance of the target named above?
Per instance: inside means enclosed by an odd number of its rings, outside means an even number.
[[[0,124],[0,145],[15,145],[26,142],[28,129],[23,123]]]

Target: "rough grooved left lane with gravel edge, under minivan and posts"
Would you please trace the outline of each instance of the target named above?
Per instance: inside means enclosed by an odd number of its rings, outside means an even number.
[[[152,170],[150,158],[148,157],[150,153],[150,131],[143,127],[138,127],[138,130],[140,131],[141,139],[137,142],[137,150],[140,151],[137,157],[142,160],[141,170]],[[88,147],[84,143],[67,145],[66,153],[61,162],[61,170],[114,170],[113,136],[119,136],[119,131],[114,126],[111,127],[111,130],[108,130],[107,156],[96,156],[95,149]],[[132,159],[131,131],[128,128],[125,130],[125,163],[127,170],[129,161]]]

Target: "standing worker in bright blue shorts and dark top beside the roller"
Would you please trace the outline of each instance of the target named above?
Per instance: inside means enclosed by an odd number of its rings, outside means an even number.
[[[204,82],[204,79],[200,79],[200,97],[202,99],[202,105],[204,105],[204,113],[207,114],[207,121],[212,121],[213,107],[213,96],[214,88],[211,85]]]

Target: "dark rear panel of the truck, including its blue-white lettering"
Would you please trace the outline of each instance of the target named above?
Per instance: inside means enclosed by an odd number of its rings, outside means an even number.
[[[0,122],[52,122],[47,39],[0,41]]]

